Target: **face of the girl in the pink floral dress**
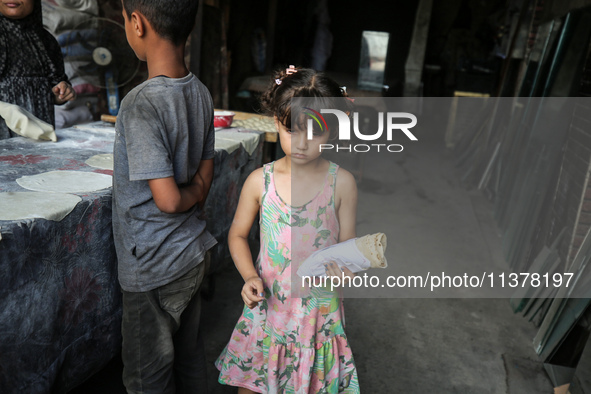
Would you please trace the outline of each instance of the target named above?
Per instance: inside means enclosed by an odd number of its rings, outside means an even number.
[[[320,157],[320,145],[326,144],[330,133],[324,132],[321,135],[314,135],[311,140],[308,139],[306,130],[293,129],[289,130],[281,123],[277,117],[275,118],[275,125],[279,130],[279,142],[281,149],[286,156],[291,158],[293,163],[305,164]]]

